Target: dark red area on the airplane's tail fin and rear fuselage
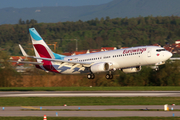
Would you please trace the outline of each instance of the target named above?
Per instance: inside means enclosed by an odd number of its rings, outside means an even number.
[[[47,51],[47,49],[41,45],[41,44],[34,44],[34,47],[36,48],[38,54],[40,55],[40,57],[43,57],[43,58],[51,58],[49,52]],[[51,72],[56,72],[56,73],[59,73],[52,65],[51,61],[46,61],[46,60],[42,60],[42,62],[44,63],[43,64],[43,67],[48,70],[48,71],[51,71]]]

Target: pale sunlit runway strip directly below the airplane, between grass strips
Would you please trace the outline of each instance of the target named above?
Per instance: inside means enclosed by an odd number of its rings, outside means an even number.
[[[180,97],[180,91],[13,91],[0,97]]]

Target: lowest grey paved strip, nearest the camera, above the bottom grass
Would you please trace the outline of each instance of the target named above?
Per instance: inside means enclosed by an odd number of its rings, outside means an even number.
[[[56,117],[180,117],[179,111],[16,111],[16,112],[0,112],[0,116],[41,116],[47,115]]]

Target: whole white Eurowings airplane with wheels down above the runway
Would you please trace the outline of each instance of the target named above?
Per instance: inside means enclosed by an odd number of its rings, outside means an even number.
[[[139,46],[111,51],[64,56],[52,52],[35,28],[29,28],[35,56],[29,56],[19,44],[22,54],[34,58],[37,62],[17,61],[34,64],[36,68],[60,74],[86,73],[88,79],[94,79],[96,73],[106,72],[106,79],[113,78],[115,70],[134,73],[141,66],[162,65],[171,58],[172,53],[162,47]]]

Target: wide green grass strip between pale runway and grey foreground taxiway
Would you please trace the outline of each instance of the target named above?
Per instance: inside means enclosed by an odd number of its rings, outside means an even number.
[[[180,104],[180,97],[1,97],[0,106]]]

